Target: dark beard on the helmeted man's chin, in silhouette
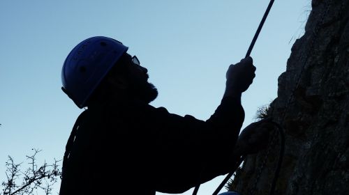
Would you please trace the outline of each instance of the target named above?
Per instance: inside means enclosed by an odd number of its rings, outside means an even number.
[[[149,104],[153,100],[158,97],[158,90],[154,86],[154,84],[149,83],[148,81],[135,81],[131,82],[130,86],[128,88],[129,93],[131,93],[131,96],[141,100],[142,102],[145,102]]]

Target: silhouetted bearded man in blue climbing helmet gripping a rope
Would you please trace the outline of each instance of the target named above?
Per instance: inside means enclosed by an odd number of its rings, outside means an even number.
[[[182,193],[265,146],[265,123],[246,127],[238,139],[241,95],[255,77],[250,57],[230,65],[221,104],[204,121],[149,105],[158,91],[127,49],[112,38],[92,37],[64,62],[62,90],[87,109],[66,145],[59,194]]]

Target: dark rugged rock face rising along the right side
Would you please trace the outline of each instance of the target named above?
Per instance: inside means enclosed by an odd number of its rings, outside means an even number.
[[[349,194],[348,20],[349,0],[313,0],[305,34],[279,77],[267,111],[285,132],[275,194]],[[269,194],[279,145],[276,136],[269,149],[248,156],[230,190]]]

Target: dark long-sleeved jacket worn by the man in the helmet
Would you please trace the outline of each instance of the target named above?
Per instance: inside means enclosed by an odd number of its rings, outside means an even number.
[[[235,98],[206,121],[132,101],[91,107],[67,146],[60,194],[185,192],[231,171],[243,121]]]

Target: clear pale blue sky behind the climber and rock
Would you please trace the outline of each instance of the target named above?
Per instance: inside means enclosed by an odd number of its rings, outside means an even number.
[[[152,105],[206,120],[222,98],[228,65],[245,56],[268,3],[1,0],[0,181],[8,155],[23,162],[31,148],[40,148],[40,161],[63,157],[82,110],[61,91],[61,66],[81,40],[120,40],[148,68],[158,88]],[[276,98],[277,79],[303,33],[310,4],[275,1],[251,54],[257,70],[243,95],[244,127],[254,121],[258,107]],[[205,183],[199,194],[211,194],[221,180]]]

